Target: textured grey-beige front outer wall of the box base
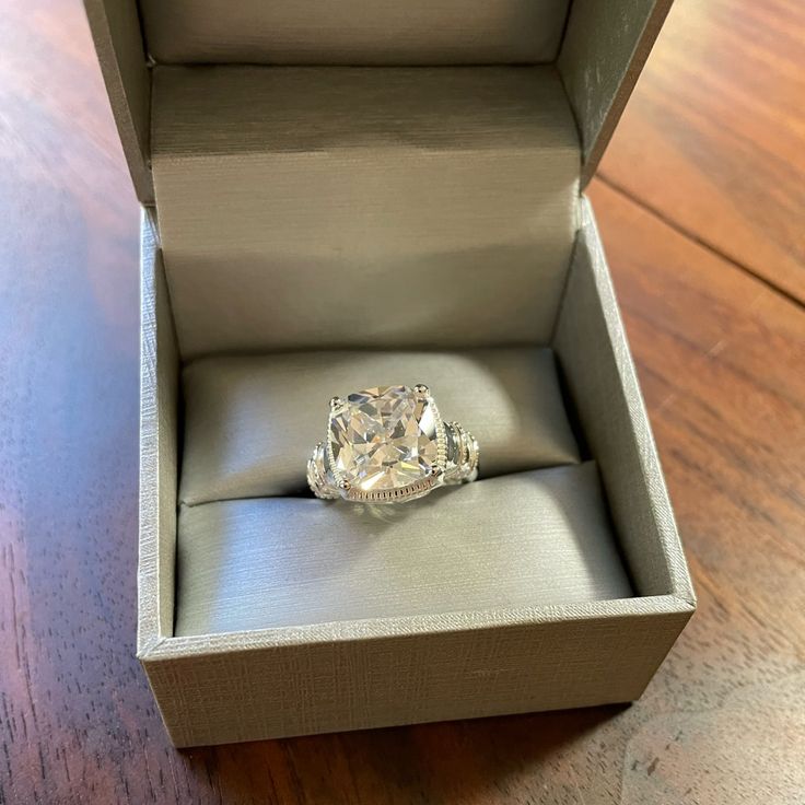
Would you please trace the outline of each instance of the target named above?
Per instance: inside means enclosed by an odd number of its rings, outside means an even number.
[[[690,611],[661,596],[167,638],[142,660],[177,746],[231,743],[630,701]]]

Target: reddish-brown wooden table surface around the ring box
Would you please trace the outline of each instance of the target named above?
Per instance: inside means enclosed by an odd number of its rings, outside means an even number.
[[[176,751],[133,657],[138,208],[79,0],[0,25],[0,802],[805,801],[805,4],[677,0],[593,196],[700,611],[631,708]]]

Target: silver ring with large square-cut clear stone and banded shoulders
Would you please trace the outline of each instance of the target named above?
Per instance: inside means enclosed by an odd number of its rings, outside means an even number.
[[[442,419],[428,386],[378,386],[330,400],[307,483],[325,500],[404,503],[474,481],[478,455],[476,439]]]

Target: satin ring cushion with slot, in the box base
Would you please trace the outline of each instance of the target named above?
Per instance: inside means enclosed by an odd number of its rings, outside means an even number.
[[[382,510],[305,494],[323,389],[422,376],[481,480]],[[631,595],[548,348],[213,357],[184,389],[177,634]]]

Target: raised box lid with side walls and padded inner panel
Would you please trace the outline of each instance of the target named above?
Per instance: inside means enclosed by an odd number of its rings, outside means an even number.
[[[154,203],[160,63],[553,63],[579,128],[582,186],[600,160],[672,0],[85,0],[138,198]],[[374,43],[377,43],[376,45]]]

